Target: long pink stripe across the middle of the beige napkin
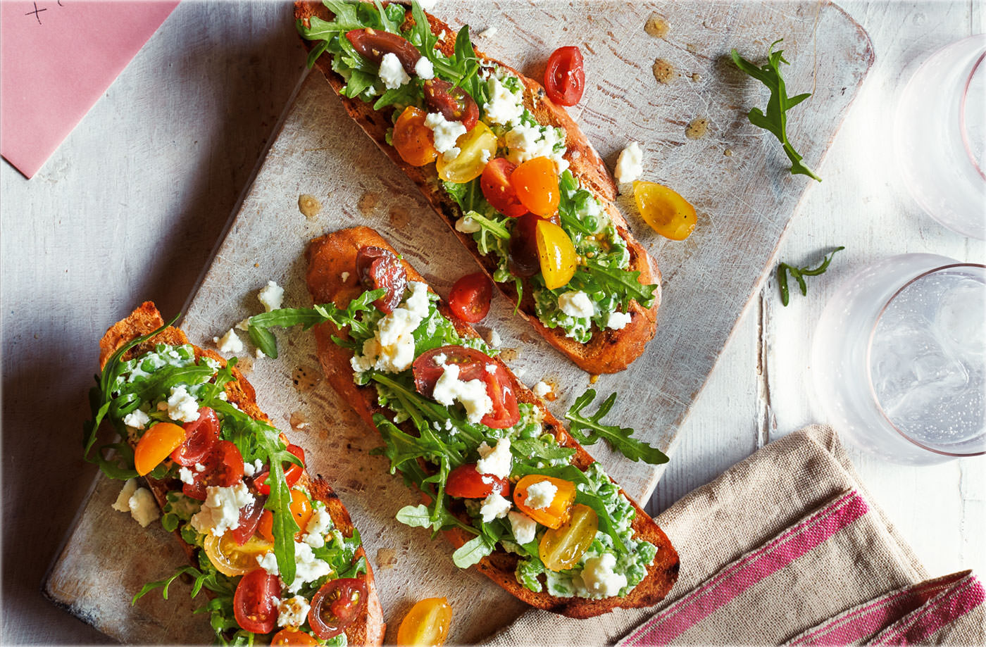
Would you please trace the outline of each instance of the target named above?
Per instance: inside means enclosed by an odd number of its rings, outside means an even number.
[[[706,584],[645,622],[620,645],[663,645],[680,636],[744,591],[790,565],[867,513],[869,507],[850,490],[782,535],[720,571]]]

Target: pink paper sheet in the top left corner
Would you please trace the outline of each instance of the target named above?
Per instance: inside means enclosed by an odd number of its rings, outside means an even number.
[[[34,176],[177,4],[0,2],[0,154]]]

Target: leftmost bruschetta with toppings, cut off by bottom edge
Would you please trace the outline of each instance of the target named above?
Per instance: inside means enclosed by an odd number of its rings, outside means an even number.
[[[191,560],[134,603],[157,587],[167,598],[186,574],[193,595],[210,597],[203,610],[221,644],[381,644],[359,533],[332,488],[310,477],[304,450],[257,407],[236,360],[188,343],[150,302],[100,346],[86,458],[126,480],[114,507],[144,525],[163,513]],[[98,444],[104,421],[118,442]]]

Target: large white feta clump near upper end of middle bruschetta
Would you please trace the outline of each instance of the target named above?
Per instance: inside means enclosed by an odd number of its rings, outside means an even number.
[[[414,361],[414,330],[428,317],[428,286],[419,281],[407,284],[410,296],[378,324],[374,336],[363,342],[362,354],[350,365],[357,373],[376,369],[399,373]]]

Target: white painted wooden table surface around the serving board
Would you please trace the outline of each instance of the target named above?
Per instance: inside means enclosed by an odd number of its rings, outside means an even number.
[[[824,421],[805,351],[839,280],[900,252],[986,257],[986,246],[944,230],[903,192],[887,118],[915,62],[984,31],[981,4],[842,6],[869,32],[877,63],[827,158],[807,160],[824,181],[807,192],[780,255],[801,262],[828,246],[847,250],[789,308],[772,281],[763,286],[682,426],[655,512],[764,443]],[[34,180],[3,163],[4,643],[105,642],[38,592],[92,481],[79,434],[96,340],[143,299],[181,308],[303,61],[287,5],[185,2]],[[984,570],[983,460],[915,468],[851,456],[930,572]]]

